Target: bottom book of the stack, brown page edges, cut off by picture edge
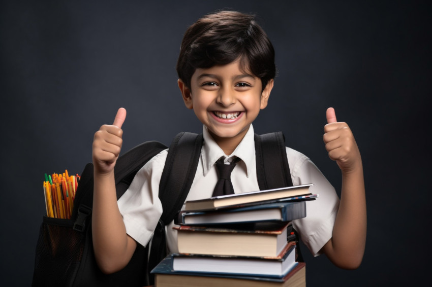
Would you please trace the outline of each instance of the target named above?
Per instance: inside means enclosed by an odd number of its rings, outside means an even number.
[[[163,265],[164,261],[161,262]],[[169,263],[168,263],[169,264]],[[158,265],[160,266],[160,265]],[[170,268],[167,271],[153,269],[156,287],[305,287],[306,265],[299,262],[283,278],[257,277],[257,276],[214,276],[208,273],[181,274]]]

